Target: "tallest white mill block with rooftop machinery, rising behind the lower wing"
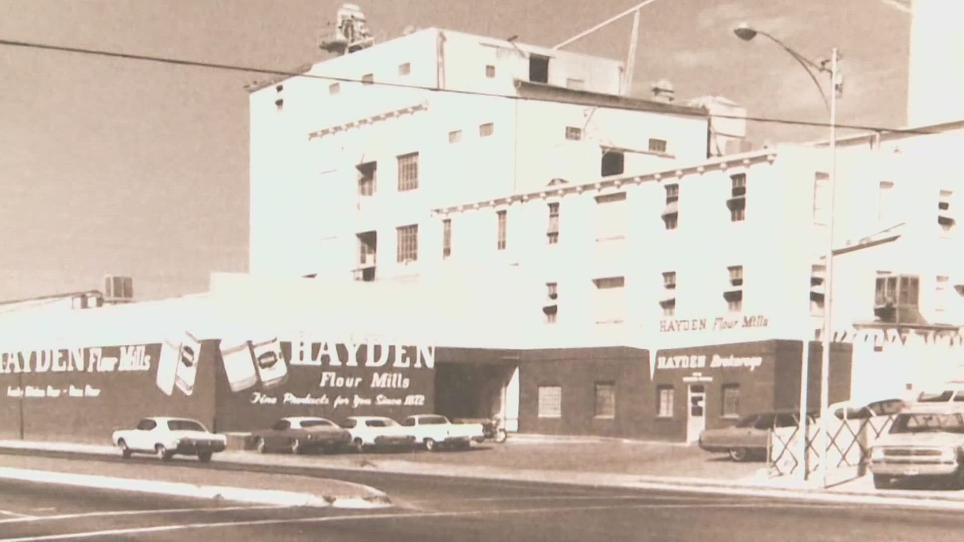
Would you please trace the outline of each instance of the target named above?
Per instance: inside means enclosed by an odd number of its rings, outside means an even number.
[[[427,29],[258,85],[252,272],[414,277],[418,243],[437,236],[433,208],[705,158],[706,104],[622,96],[622,71]],[[728,122],[715,132],[724,147],[743,133]]]

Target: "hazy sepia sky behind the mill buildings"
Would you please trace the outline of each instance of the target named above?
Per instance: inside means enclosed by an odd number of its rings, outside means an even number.
[[[906,0],[897,0],[906,2]],[[554,45],[637,0],[356,0],[377,39],[440,27]],[[0,0],[0,39],[256,68],[328,53],[340,0]],[[749,22],[808,58],[843,55],[839,122],[902,127],[910,14],[881,0],[656,0],[633,95],[722,95],[753,117],[826,122],[813,82]],[[631,16],[569,49],[625,59]],[[134,277],[138,299],[204,291],[248,264],[248,93],[257,74],[0,45],[0,300]],[[802,142],[820,127],[751,123]],[[848,133],[842,131],[842,135]]]

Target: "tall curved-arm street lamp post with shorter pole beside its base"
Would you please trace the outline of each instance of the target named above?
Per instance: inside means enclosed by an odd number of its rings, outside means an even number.
[[[824,256],[824,262],[826,265],[826,276],[823,280],[824,292],[823,292],[823,331],[820,334],[822,339],[821,348],[821,360],[820,360],[820,470],[819,470],[819,483],[820,487],[826,487],[827,485],[827,451],[829,449],[829,438],[827,435],[827,421],[826,416],[823,414],[826,412],[829,402],[829,387],[830,387],[830,345],[831,345],[831,309],[833,300],[833,257],[834,257],[834,203],[836,202],[836,189],[837,189],[837,95],[841,88],[840,74],[838,72],[838,60],[839,55],[837,48],[835,47],[831,53],[830,57],[830,67],[827,68],[827,61],[817,64],[800,53],[794,51],[789,45],[783,41],[777,40],[773,36],[763,32],[762,30],[756,30],[751,28],[746,23],[737,26],[734,29],[734,34],[736,37],[742,41],[750,41],[757,37],[757,35],[762,35],[769,40],[775,42],[776,44],[783,47],[785,51],[790,53],[790,56],[796,60],[810,75],[811,80],[817,85],[817,90],[820,92],[820,97],[823,98],[823,104],[829,109],[830,113],[830,178],[828,182],[829,186],[829,209],[827,218],[827,244],[826,244],[826,256]],[[827,95],[823,92],[823,87],[817,80],[817,75],[814,73],[817,70],[821,73],[827,73],[830,75],[830,100],[827,103]],[[808,337],[803,341],[803,359],[802,366],[800,370],[800,427],[803,430],[803,439],[801,439],[801,455],[800,464],[803,466],[803,479],[807,478],[807,401],[808,401],[808,384],[809,384],[809,372],[810,372],[810,338]]]

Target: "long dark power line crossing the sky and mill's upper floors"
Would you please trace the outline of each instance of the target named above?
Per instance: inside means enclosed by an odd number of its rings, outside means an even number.
[[[223,64],[223,63],[213,63],[213,62],[203,62],[194,60],[182,60],[174,59],[169,57],[159,57],[152,55],[137,55],[132,53],[120,53],[117,51],[107,51],[102,49],[90,49],[85,47],[68,47],[65,45],[51,45],[48,43],[38,43],[33,41],[14,41],[14,40],[0,40],[0,45],[9,45],[14,47],[25,47],[33,49],[44,49],[50,51],[61,51],[69,53],[78,53],[84,55],[94,55],[102,57],[112,57],[121,58],[126,60],[134,61],[145,61],[145,62],[156,62],[161,64],[172,64],[176,66],[188,66],[193,68],[212,68],[212,69],[224,69],[229,71],[243,71],[248,73],[261,73],[264,75],[275,75],[275,76],[286,76],[286,77],[305,77],[308,79],[321,79],[325,81],[335,81],[344,83],[360,83],[367,86],[377,85],[383,87],[394,87],[402,89],[412,89],[421,91],[430,91],[436,93],[448,93],[448,94],[458,94],[458,95],[480,95],[489,97],[500,97],[506,99],[516,99],[522,101],[549,101],[554,103],[566,103],[571,105],[583,105],[588,107],[605,107],[607,109],[618,109],[626,111],[647,111],[646,109],[641,109],[639,107],[631,107],[628,105],[620,105],[618,103],[600,105],[598,102],[591,100],[559,100],[559,99],[546,99],[546,98],[532,98],[518,95],[499,95],[495,93],[485,93],[481,91],[463,91],[457,89],[439,89],[435,87],[426,87],[421,85],[407,85],[405,83],[390,83],[386,81],[362,81],[362,79],[354,79],[351,77],[337,77],[334,75],[317,75],[313,73],[305,73],[298,71],[289,71],[281,69],[270,69],[270,68],[255,68],[250,66],[240,66],[234,64]],[[613,98],[619,98],[621,96],[612,96]],[[661,112],[662,110],[658,108],[659,104],[654,104],[654,108],[649,110],[651,112]],[[674,115],[689,116],[689,117],[700,117],[706,118],[706,114],[700,114],[695,112],[687,112],[683,109],[673,111]],[[796,126],[812,126],[812,127],[829,127],[828,122],[816,122],[816,121],[794,121],[790,119],[776,119],[771,117],[748,117],[739,115],[713,115],[717,119],[734,119],[734,120],[746,120],[747,122],[768,122],[774,124],[789,124]],[[940,132],[924,129],[913,129],[913,128],[886,128],[881,126],[869,126],[862,124],[843,124],[837,123],[838,128],[861,130],[866,132],[878,132],[878,133],[900,133],[900,134],[919,134],[919,135],[933,135]]]

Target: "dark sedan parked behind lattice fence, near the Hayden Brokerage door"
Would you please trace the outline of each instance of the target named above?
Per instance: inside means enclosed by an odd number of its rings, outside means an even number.
[[[725,451],[734,461],[765,458],[769,432],[777,427],[795,427],[799,420],[799,413],[790,411],[748,414],[733,426],[704,430],[699,446],[707,451]],[[816,417],[809,414],[808,423],[815,422]]]

